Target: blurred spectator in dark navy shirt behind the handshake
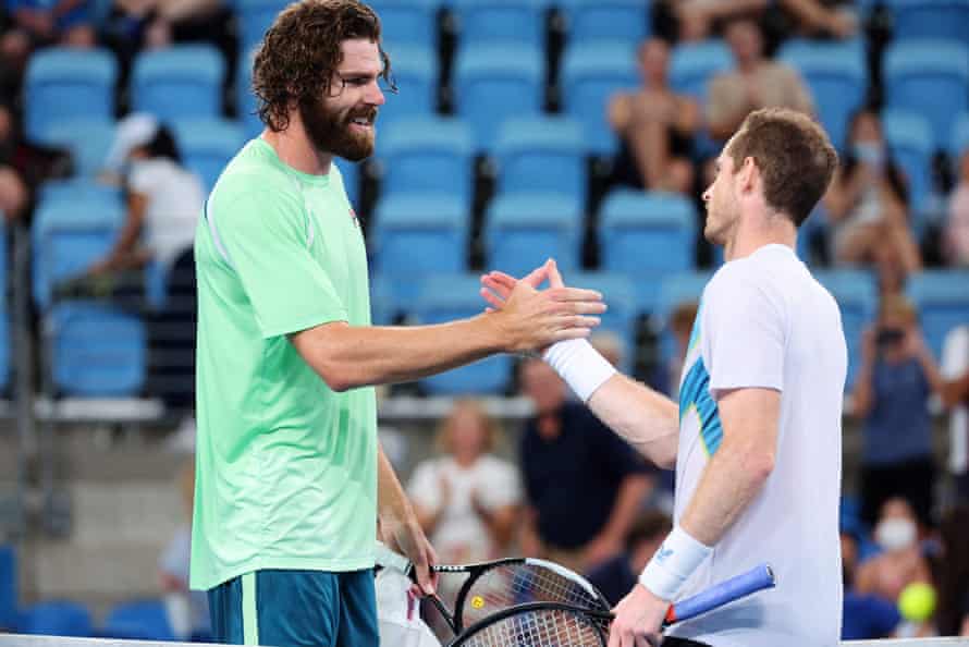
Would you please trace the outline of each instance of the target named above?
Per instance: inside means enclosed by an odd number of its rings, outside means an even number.
[[[540,359],[522,366],[535,406],[519,457],[526,493],[520,548],[577,572],[623,550],[624,538],[650,488],[641,457],[578,402]]]

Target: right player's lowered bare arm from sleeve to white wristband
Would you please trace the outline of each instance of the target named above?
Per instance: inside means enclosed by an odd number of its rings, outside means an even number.
[[[774,469],[781,393],[736,389],[717,400],[723,441],[713,454],[680,525],[714,546],[760,492]]]

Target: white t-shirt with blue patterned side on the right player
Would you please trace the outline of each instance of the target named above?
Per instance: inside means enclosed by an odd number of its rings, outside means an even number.
[[[678,523],[723,436],[717,393],[781,392],[774,471],[687,581],[683,597],[766,562],[777,587],[675,625],[714,647],[835,647],[842,625],[838,500],[847,349],[831,294],[784,245],[710,280],[679,390]]]

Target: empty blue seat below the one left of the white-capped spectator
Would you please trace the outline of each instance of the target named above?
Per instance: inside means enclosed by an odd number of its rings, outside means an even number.
[[[54,387],[79,398],[137,395],[145,382],[145,326],[112,305],[71,301],[47,319]]]

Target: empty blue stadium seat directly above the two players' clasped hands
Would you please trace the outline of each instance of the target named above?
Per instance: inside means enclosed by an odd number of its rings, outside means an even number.
[[[574,195],[501,194],[486,219],[487,266],[523,277],[552,257],[563,271],[575,269],[581,223],[582,206]]]

